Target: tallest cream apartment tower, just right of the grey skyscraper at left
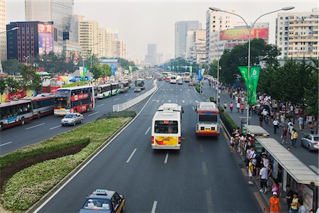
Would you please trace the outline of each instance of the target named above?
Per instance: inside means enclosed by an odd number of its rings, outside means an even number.
[[[99,55],[99,23],[79,17],[79,43],[82,48],[82,57]]]

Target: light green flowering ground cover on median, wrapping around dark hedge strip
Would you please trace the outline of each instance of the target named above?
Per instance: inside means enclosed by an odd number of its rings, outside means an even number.
[[[66,143],[84,138],[91,139],[78,153],[45,160],[14,174],[6,182],[4,195],[1,196],[4,208],[13,212],[23,212],[32,207],[129,120],[130,117],[99,119],[45,141],[44,143]]]

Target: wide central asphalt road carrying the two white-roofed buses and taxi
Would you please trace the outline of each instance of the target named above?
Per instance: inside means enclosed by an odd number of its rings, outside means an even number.
[[[125,195],[127,212],[262,212],[260,195],[248,187],[223,129],[218,138],[195,136],[194,109],[205,98],[186,84],[157,86],[135,120],[39,212],[78,212],[86,195],[98,188]],[[184,108],[180,151],[150,146],[152,116],[164,102]]]

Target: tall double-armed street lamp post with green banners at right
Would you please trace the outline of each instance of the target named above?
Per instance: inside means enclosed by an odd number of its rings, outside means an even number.
[[[262,16],[266,16],[270,13],[276,13],[278,11],[289,11],[291,9],[294,9],[295,7],[294,6],[286,6],[282,9],[278,9],[276,11],[271,11],[269,13],[264,13],[262,14]],[[247,116],[246,116],[246,124],[249,124],[249,116],[250,116],[250,104],[248,103],[248,90],[249,90],[249,85],[250,85],[250,40],[252,40],[252,28],[254,28],[254,24],[258,21],[259,18],[262,18],[262,16],[259,16],[255,21],[254,23],[252,23],[252,26],[249,26],[247,24],[247,21],[245,21],[244,18],[242,18],[242,16],[238,15],[237,13],[232,13],[230,11],[223,11],[221,9],[218,9],[216,7],[210,7],[209,9],[211,9],[212,11],[220,11],[220,12],[224,12],[224,13],[230,13],[230,14],[233,14],[234,16],[238,16],[242,19],[242,21],[245,22],[246,24],[246,27],[249,31],[249,39],[248,39],[248,64],[247,64],[247,69],[248,69],[248,82],[247,82]]]

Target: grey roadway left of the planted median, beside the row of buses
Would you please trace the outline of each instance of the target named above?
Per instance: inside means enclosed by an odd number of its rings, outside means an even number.
[[[152,80],[147,80],[147,87],[142,91],[142,93],[151,89],[152,83]],[[108,111],[112,111],[114,104],[121,104],[126,102],[128,99],[133,99],[135,97],[136,94],[133,92],[133,88],[130,88],[130,92],[125,94],[119,94],[108,97],[107,99],[98,100],[96,102],[95,109],[92,109],[92,111],[89,111],[88,113],[84,113],[84,124],[94,121]],[[61,116],[44,116],[40,119],[30,121],[28,124],[23,126],[15,126],[11,129],[1,131],[0,155],[5,155],[6,153],[15,151],[23,146],[43,141],[55,136],[57,133],[62,133],[75,128],[74,126],[62,127],[60,125],[61,119]]]

